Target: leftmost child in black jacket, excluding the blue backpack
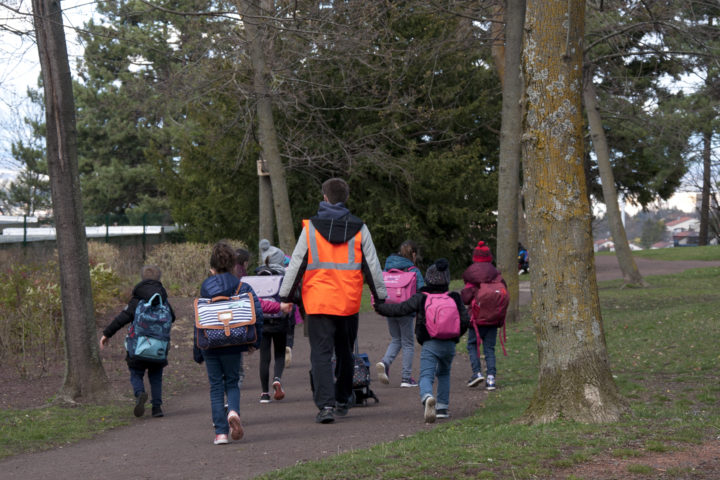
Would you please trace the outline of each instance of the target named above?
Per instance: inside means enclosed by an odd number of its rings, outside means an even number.
[[[142,280],[140,283],[135,285],[132,291],[132,298],[130,302],[125,306],[122,312],[120,312],[115,319],[103,330],[103,335],[100,338],[100,349],[105,348],[110,341],[110,338],[117,333],[125,325],[132,323],[135,319],[135,312],[137,311],[138,305],[141,303],[150,302],[153,297],[153,304],[162,303],[169,309],[172,322],[175,321],[175,312],[167,301],[167,292],[162,283],[160,283],[160,276],[162,272],[160,268],[154,265],[145,265],[140,276]],[[155,295],[158,294],[159,298]],[[162,417],[162,374],[163,369],[167,366],[167,356],[160,360],[146,360],[131,356],[129,352],[126,352],[125,361],[130,369],[130,383],[133,387],[133,393],[135,394],[135,408],[133,413],[136,417],[142,417],[145,414],[145,403],[147,402],[148,395],[145,392],[145,371],[147,370],[148,380],[150,382],[150,393],[152,395],[152,416]]]

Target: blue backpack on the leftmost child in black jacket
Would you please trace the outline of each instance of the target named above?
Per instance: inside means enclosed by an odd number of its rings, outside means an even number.
[[[130,358],[164,363],[167,360],[171,328],[170,305],[163,303],[162,296],[156,293],[147,302],[138,303],[125,336],[125,350]]]

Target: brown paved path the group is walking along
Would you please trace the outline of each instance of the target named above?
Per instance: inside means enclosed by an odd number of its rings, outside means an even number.
[[[614,256],[597,257],[598,278],[618,278]],[[639,260],[643,275],[664,274],[697,266],[720,266],[720,262],[656,262]],[[529,295],[527,283],[522,282]],[[187,321],[181,318],[178,321]],[[379,361],[388,342],[384,318],[361,315],[361,351],[371,362]],[[187,352],[185,353],[187,354]],[[420,348],[415,349],[417,377]],[[167,398],[166,416],[145,417],[90,440],[35,454],[0,461],[3,480],[33,479],[238,479],[319,459],[341,452],[367,448],[435,428],[425,425],[416,388],[400,388],[400,358],[391,368],[391,385],[375,381],[372,388],[380,403],[355,408],[334,424],[314,423],[316,409],[308,382],[309,346],[296,335],[295,362],[284,375],[287,397],[267,405],[258,403],[258,355],[247,357],[241,416],[245,438],[227,446],[212,444],[213,429],[206,383],[190,387],[182,395]],[[499,360],[502,372],[502,357]],[[197,368],[202,368],[195,366]],[[456,357],[452,369],[451,413],[453,418],[472,415],[483,406],[485,390],[465,387],[470,376],[467,355]],[[171,369],[167,375],[173,375]],[[502,373],[498,377],[502,388]],[[129,407],[130,408],[130,407]],[[487,412],[489,415],[492,412]],[[368,468],[372,468],[369,466]],[[372,473],[369,472],[370,475]]]

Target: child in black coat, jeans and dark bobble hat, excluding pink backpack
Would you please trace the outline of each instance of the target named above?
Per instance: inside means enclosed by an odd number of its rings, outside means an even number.
[[[422,345],[420,352],[420,400],[424,406],[427,423],[435,418],[449,418],[450,406],[450,368],[455,357],[455,345],[467,331],[469,317],[460,294],[450,292],[460,314],[460,334],[449,339],[433,338],[428,333],[425,318],[425,293],[444,293],[450,285],[450,265],[444,258],[430,265],[425,273],[425,287],[402,303],[376,303],[375,311],[386,317],[399,317],[415,313],[415,337]],[[433,396],[433,382],[438,379],[437,400]]]

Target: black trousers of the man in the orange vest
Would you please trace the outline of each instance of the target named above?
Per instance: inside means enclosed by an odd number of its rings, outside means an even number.
[[[348,403],[352,396],[353,347],[357,338],[358,314],[349,316],[308,315],[310,371],[313,400],[319,409]],[[335,354],[336,368],[332,369]]]

